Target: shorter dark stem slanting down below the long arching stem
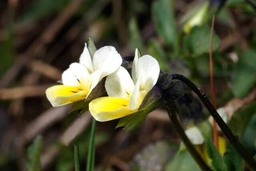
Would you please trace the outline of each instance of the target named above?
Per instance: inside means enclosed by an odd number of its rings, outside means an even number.
[[[192,157],[194,158],[196,163],[199,165],[199,167],[202,169],[202,171],[212,171],[212,169],[210,169],[210,167],[204,162],[202,157],[199,155],[199,153],[194,148],[194,145],[188,139],[186,133],[184,132],[184,129],[182,128],[182,126],[180,125],[180,122],[177,119],[175,107],[172,105],[172,102],[170,102],[169,105],[166,105],[166,107],[167,107],[168,115],[169,115],[176,131],[180,135],[180,138],[182,139],[183,143],[186,145],[188,151],[190,152],[190,154],[192,155]]]

